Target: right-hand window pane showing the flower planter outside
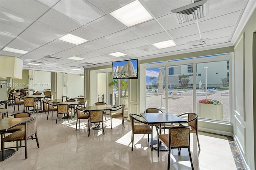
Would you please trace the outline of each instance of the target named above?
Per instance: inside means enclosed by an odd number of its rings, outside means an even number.
[[[230,120],[229,78],[227,61],[198,63],[196,100],[198,117]]]

